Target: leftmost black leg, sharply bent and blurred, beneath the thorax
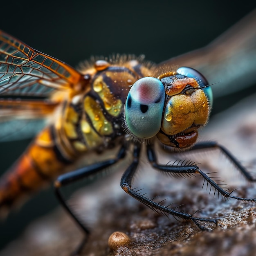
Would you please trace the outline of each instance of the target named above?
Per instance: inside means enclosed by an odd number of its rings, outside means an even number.
[[[73,218],[73,220],[76,222],[76,224],[84,231],[85,233],[85,239],[83,239],[82,243],[79,245],[79,247],[76,249],[76,251],[72,255],[79,255],[81,250],[83,249],[83,246],[85,245],[88,235],[90,234],[90,231],[83,223],[79,220],[79,218],[76,217],[72,209],[67,204],[63,194],[61,193],[61,187],[66,186],[68,184],[72,184],[73,182],[76,182],[77,180],[86,179],[89,176],[96,175],[97,173],[100,173],[104,171],[107,167],[117,163],[119,160],[123,159],[126,155],[126,145],[123,145],[117,156],[113,159],[108,159],[106,161],[97,162],[95,164],[85,166],[81,169],[65,173],[63,175],[58,176],[56,181],[54,182],[54,191],[56,194],[56,197],[58,198],[61,205],[64,207],[64,209],[70,214],[70,216]]]

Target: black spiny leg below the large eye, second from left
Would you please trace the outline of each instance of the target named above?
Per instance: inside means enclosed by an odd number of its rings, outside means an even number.
[[[176,216],[178,218],[182,218],[185,220],[191,220],[193,221],[200,229],[206,229],[206,227],[202,226],[200,222],[213,222],[214,224],[217,225],[217,220],[216,219],[205,219],[205,218],[196,218],[192,214],[184,213],[184,212],[179,212],[176,210],[173,210],[171,208],[168,208],[168,206],[163,206],[153,200],[150,200],[144,195],[141,195],[141,193],[138,193],[139,190],[135,191],[131,187],[132,183],[132,177],[134,176],[137,166],[139,164],[139,152],[140,148],[139,145],[135,145],[134,148],[134,153],[133,153],[133,161],[130,164],[130,166],[126,169],[124,172],[122,178],[121,178],[121,188],[124,189],[126,193],[131,195],[133,198],[138,200],[139,202],[145,204],[148,206],[150,209],[153,211],[161,211],[164,214],[171,214],[173,216]],[[191,166],[189,166],[191,167]],[[177,167],[178,169],[180,166]],[[177,169],[176,168],[176,169]],[[192,170],[197,170],[198,167],[191,167]],[[187,172],[191,172],[191,170],[187,170]]]

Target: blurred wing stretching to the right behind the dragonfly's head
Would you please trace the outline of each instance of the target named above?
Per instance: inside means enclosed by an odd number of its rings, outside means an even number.
[[[202,72],[212,87],[215,98],[256,83],[256,10],[240,20],[212,43],[168,61],[167,65],[189,66]],[[220,82],[220,83],[218,83]]]

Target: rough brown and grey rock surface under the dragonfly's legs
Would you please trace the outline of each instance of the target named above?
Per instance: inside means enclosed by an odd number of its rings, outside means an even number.
[[[256,95],[216,115],[201,133],[200,140],[216,140],[225,145],[240,162],[255,174],[256,171]],[[167,164],[172,158],[159,148],[159,162]],[[256,198],[255,185],[247,182],[234,165],[218,150],[177,155],[180,159],[193,159],[200,169],[218,176],[234,195]],[[100,181],[76,192],[70,203],[81,220],[92,230],[81,255],[90,256],[153,256],[153,255],[255,255],[256,203],[234,199],[222,200],[221,196],[200,177],[176,178],[152,170],[146,158],[139,168],[133,187],[143,188],[158,202],[202,218],[217,218],[218,226],[202,223],[202,231],[190,221],[176,220],[172,216],[157,215],[152,210],[127,195],[119,186],[124,165]],[[110,235],[120,231],[128,236],[124,243],[112,241]],[[121,233],[122,234],[122,233]],[[126,237],[126,236],[124,236]],[[33,222],[18,240],[5,248],[2,256],[65,256],[83,239],[81,231],[62,209]],[[112,239],[112,237],[111,237]],[[123,239],[123,238],[121,238]],[[130,243],[127,243],[129,241]],[[122,240],[121,240],[122,241]],[[113,244],[114,243],[114,244]]]

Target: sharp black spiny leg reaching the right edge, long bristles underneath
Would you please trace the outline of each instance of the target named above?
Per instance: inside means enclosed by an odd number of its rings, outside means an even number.
[[[214,182],[207,174],[202,172],[197,165],[161,165],[157,164],[157,158],[152,145],[147,146],[147,155],[150,164],[159,171],[166,173],[180,173],[180,174],[200,174],[211,186],[213,186],[221,195],[227,198],[234,198],[243,201],[254,201],[255,198],[240,198],[231,195],[231,193],[222,189],[216,182]]]

